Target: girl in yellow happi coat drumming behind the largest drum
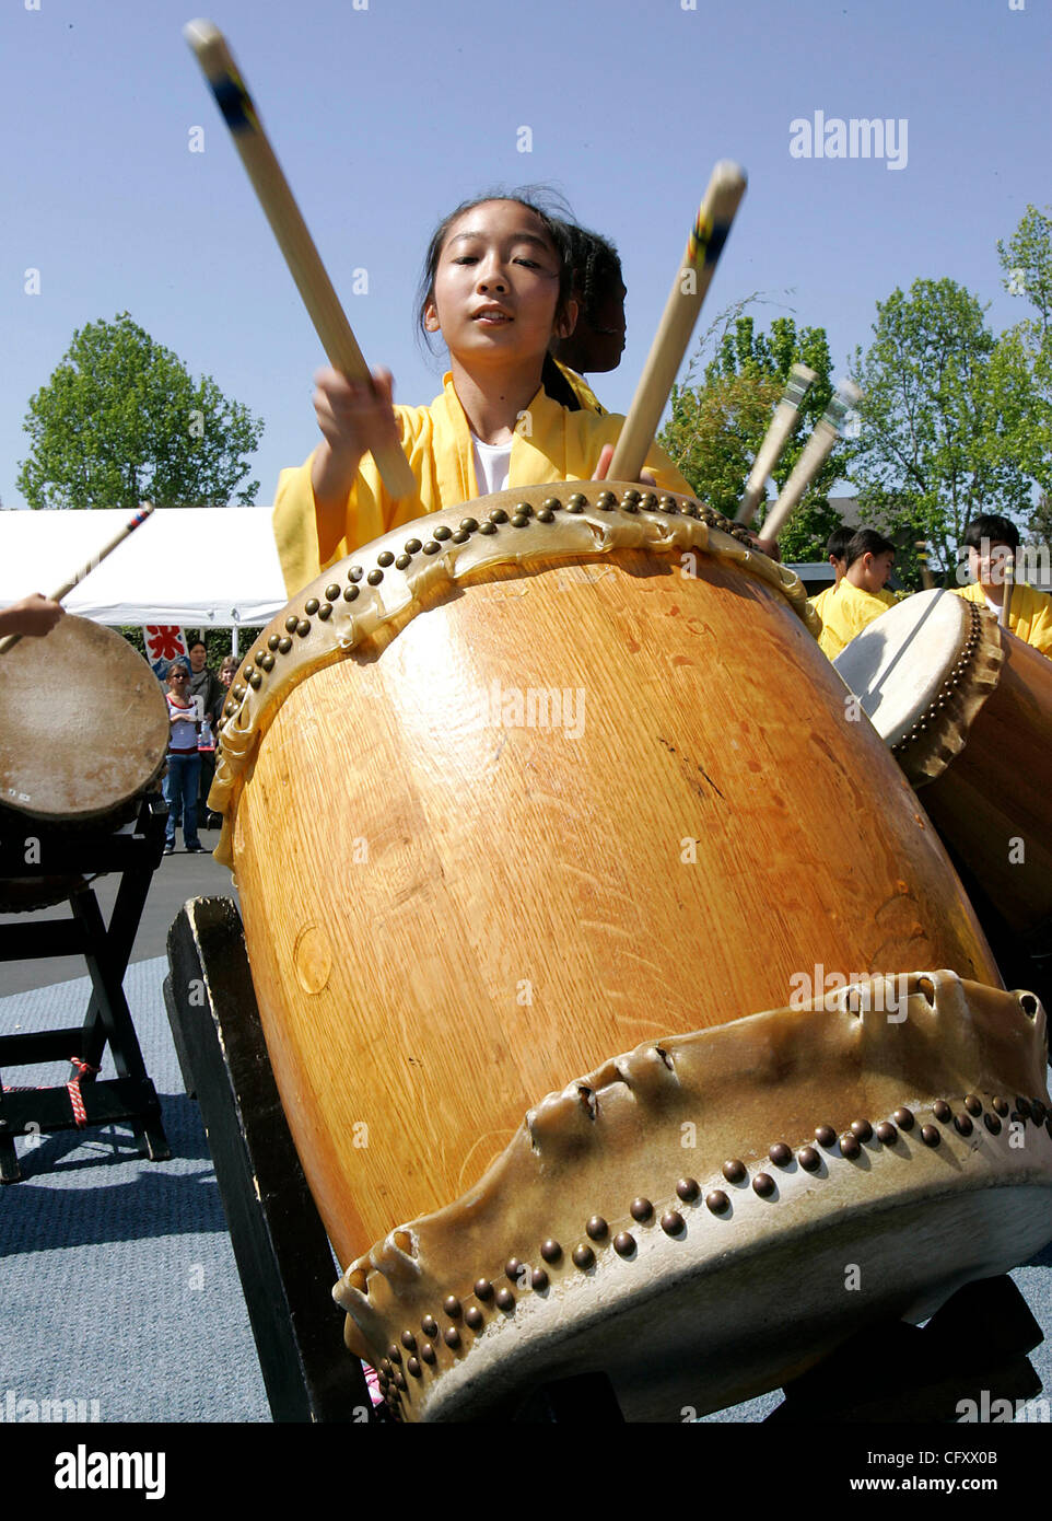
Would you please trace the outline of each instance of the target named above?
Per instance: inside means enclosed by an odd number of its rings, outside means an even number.
[[[420,313],[450,353],[442,394],[426,408],[392,406],[386,370],[374,371],[374,389],[319,371],[322,443],[304,465],[281,472],[274,506],[290,596],[424,513],[505,487],[605,473],[625,418],[570,411],[546,389],[552,336],[570,333],[576,318],[570,280],[566,233],[529,202],[485,199],[445,218],[427,254]],[[417,497],[388,494],[372,459],[388,440],[406,453]],[[657,446],[646,467],[658,488],[692,494]]]

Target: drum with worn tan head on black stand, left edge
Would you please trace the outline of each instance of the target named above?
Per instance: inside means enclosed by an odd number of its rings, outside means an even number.
[[[0,829],[46,865],[70,830],[106,834],[157,783],[169,718],[157,677],[112,628],[62,618],[0,656]],[[0,882],[0,910],[58,902],[84,878]]]

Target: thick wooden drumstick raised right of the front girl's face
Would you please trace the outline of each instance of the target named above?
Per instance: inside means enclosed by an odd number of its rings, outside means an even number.
[[[607,472],[611,481],[638,479],[743,195],[745,170],[730,160],[722,160],[713,169],[698,221],[687,239],[687,251],[672,281],[672,292],[620,430]]]

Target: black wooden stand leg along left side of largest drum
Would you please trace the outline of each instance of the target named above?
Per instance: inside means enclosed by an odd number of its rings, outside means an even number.
[[[284,1119],[231,899],[182,908],[169,966],[164,1002],[201,1104],[274,1419],[383,1421],[344,1346],[339,1270]]]

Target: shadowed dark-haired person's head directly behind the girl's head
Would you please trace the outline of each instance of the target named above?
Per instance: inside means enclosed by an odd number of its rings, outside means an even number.
[[[625,353],[628,291],[617,249],[607,237],[572,222],[564,222],[562,227],[570,240],[578,321],[567,338],[552,339],[550,353],[567,377],[576,402],[605,417],[607,408],[599,405],[582,376],[608,374],[620,364]],[[570,411],[576,411],[576,406],[570,405]]]

